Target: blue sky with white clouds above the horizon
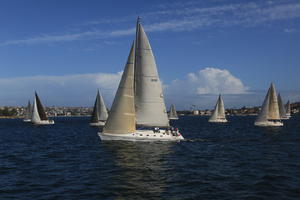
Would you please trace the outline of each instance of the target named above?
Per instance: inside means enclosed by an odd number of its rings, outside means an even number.
[[[36,89],[46,105],[110,105],[137,16],[150,39],[166,103],[260,105],[271,81],[300,101],[300,2],[0,1],[0,105]],[[226,87],[225,87],[226,86]]]

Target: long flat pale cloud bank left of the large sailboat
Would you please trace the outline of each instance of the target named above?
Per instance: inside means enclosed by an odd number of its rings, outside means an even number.
[[[99,88],[112,102],[122,72],[0,79],[0,105],[22,105],[36,90],[45,105],[92,105]]]

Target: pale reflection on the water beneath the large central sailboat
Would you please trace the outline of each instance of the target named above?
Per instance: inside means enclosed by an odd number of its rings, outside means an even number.
[[[165,157],[173,153],[176,143],[105,141],[102,145],[111,150],[118,167],[114,175],[119,185],[117,199],[161,196],[168,181]]]

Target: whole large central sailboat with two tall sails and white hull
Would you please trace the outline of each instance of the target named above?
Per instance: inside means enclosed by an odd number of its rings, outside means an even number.
[[[154,56],[139,19],[135,41],[108,119],[99,136],[101,140],[183,140],[178,129],[169,129]],[[140,128],[141,126],[143,129]],[[160,130],[158,127],[165,127],[165,129]]]

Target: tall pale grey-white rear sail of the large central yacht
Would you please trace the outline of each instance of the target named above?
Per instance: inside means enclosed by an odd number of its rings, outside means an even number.
[[[151,46],[137,22],[135,49],[135,109],[137,125],[169,126],[163,90]]]

